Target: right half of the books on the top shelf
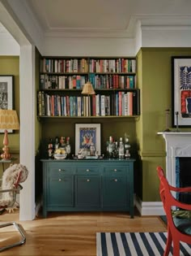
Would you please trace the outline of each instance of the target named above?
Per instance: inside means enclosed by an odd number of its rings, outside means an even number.
[[[136,72],[135,59],[90,59],[89,72]]]

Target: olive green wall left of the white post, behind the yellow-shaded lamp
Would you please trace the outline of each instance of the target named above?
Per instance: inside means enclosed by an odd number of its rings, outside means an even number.
[[[19,117],[19,56],[0,56],[0,75],[14,76],[14,109]],[[4,135],[0,134],[0,148],[3,137]],[[11,153],[19,153],[19,131],[9,134],[9,147]]]

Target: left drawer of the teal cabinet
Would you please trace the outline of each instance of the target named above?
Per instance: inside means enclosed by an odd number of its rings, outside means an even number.
[[[70,164],[51,163],[49,165],[50,176],[62,176],[74,174],[74,168]]]

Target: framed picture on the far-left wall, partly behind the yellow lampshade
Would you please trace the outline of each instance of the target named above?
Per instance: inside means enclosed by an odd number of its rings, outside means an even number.
[[[0,76],[0,109],[12,110],[14,104],[14,76]],[[4,133],[3,129],[0,132]],[[8,129],[11,133],[13,130]]]

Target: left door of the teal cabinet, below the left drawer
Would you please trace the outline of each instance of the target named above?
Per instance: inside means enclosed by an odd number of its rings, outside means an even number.
[[[74,176],[50,176],[48,206],[74,206]]]

